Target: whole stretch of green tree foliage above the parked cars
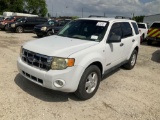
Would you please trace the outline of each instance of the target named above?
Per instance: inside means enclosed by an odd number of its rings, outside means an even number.
[[[46,0],[0,0],[0,13],[5,11],[38,14],[44,17],[48,10]]]

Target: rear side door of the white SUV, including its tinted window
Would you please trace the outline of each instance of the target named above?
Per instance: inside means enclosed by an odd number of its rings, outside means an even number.
[[[126,60],[135,42],[134,33],[129,22],[122,22],[122,42],[124,43],[123,59]]]

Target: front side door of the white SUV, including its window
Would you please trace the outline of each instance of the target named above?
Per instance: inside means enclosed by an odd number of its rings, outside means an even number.
[[[121,23],[114,23],[111,27],[108,39],[112,37],[112,35],[117,35],[122,38],[122,29]],[[106,54],[106,68],[112,68],[113,66],[118,65],[123,61],[123,52],[124,52],[124,43],[123,40],[119,42],[110,41],[106,42],[105,45],[105,54]]]

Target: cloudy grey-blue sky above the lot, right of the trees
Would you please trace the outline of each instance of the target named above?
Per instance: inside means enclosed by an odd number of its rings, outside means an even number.
[[[160,0],[46,0],[51,16],[108,17],[160,14]]]

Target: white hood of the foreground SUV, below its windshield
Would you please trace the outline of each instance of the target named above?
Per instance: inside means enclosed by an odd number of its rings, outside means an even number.
[[[23,45],[23,48],[47,56],[69,57],[71,54],[98,43],[53,35],[27,42]]]

